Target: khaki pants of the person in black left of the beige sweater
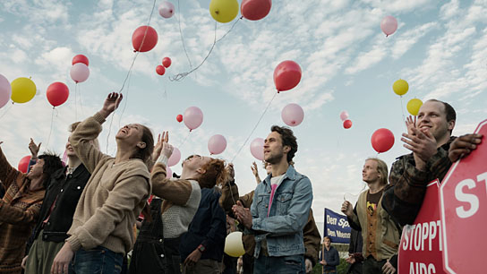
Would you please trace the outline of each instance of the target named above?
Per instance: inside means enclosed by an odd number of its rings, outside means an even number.
[[[53,265],[54,258],[63,247],[64,242],[45,242],[42,241],[41,230],[34,244],[30,247],[29,258],[25,263],[25,274],[49,274]]]

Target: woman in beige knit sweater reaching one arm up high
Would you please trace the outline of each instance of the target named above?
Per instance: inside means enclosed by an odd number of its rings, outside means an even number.
[[[54,260],[53,274],[68,273],[68,268],[78,274],[120,273],[124,254],[132,248],[132,227],[151,193],[146,162],[154,149],[152,133],[141,124],[125,125],[115,135],[115,158],[90,144],[121,100],[122,95],[109,94],[102,109],[71,136],[91,177],[76,207],[69,238]]]

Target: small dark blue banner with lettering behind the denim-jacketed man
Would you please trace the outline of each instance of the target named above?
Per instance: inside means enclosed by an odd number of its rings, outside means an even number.
[[[325,235],[331,238],[331,243],[350,244],[350,225],[345,215],[325,209]]]

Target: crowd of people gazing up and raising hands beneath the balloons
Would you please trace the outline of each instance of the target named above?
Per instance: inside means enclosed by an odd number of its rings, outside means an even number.
[[[65,151],[38,156],[30,141],[27,174],[0,147],[0,273],[337,273],[337,249],[312,214],[312,183],[295,169],[294,133],[274,125],[264,143],[261,180],[241,195],[232,163],[191,155],[167,176],[169,133],[154,139],[142,124],[115,135],[115,157],[99,150],[102,124],[122,100],[111,93],[94,116],[70,128]],[[342,204],[353,228],[347,273],[396,273],[402,227],[423,203],[426,185],[482,141],[453,137],[456,113],[431,99],[406,120],[410,154],[388,166],[367,158],[368,189]],[[1,144],[1,142],[0,142]],[[244,232],[242,263],[224,254],[226,235]],[[128,256],[130,254],[130,256]],[[130,260],[129,260],[130,258]]]

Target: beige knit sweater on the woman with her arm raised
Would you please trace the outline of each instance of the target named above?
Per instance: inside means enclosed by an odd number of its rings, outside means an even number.
[[[91,177],[81,193],[66,241],[73,251],[101,245],[115,253],[128,253],[133,245],[132,227],[151,193],[150,173],[141,159],[115,164],[115,158],[90,144],[103,122],[97,113],[78,125],[70,138]]]

